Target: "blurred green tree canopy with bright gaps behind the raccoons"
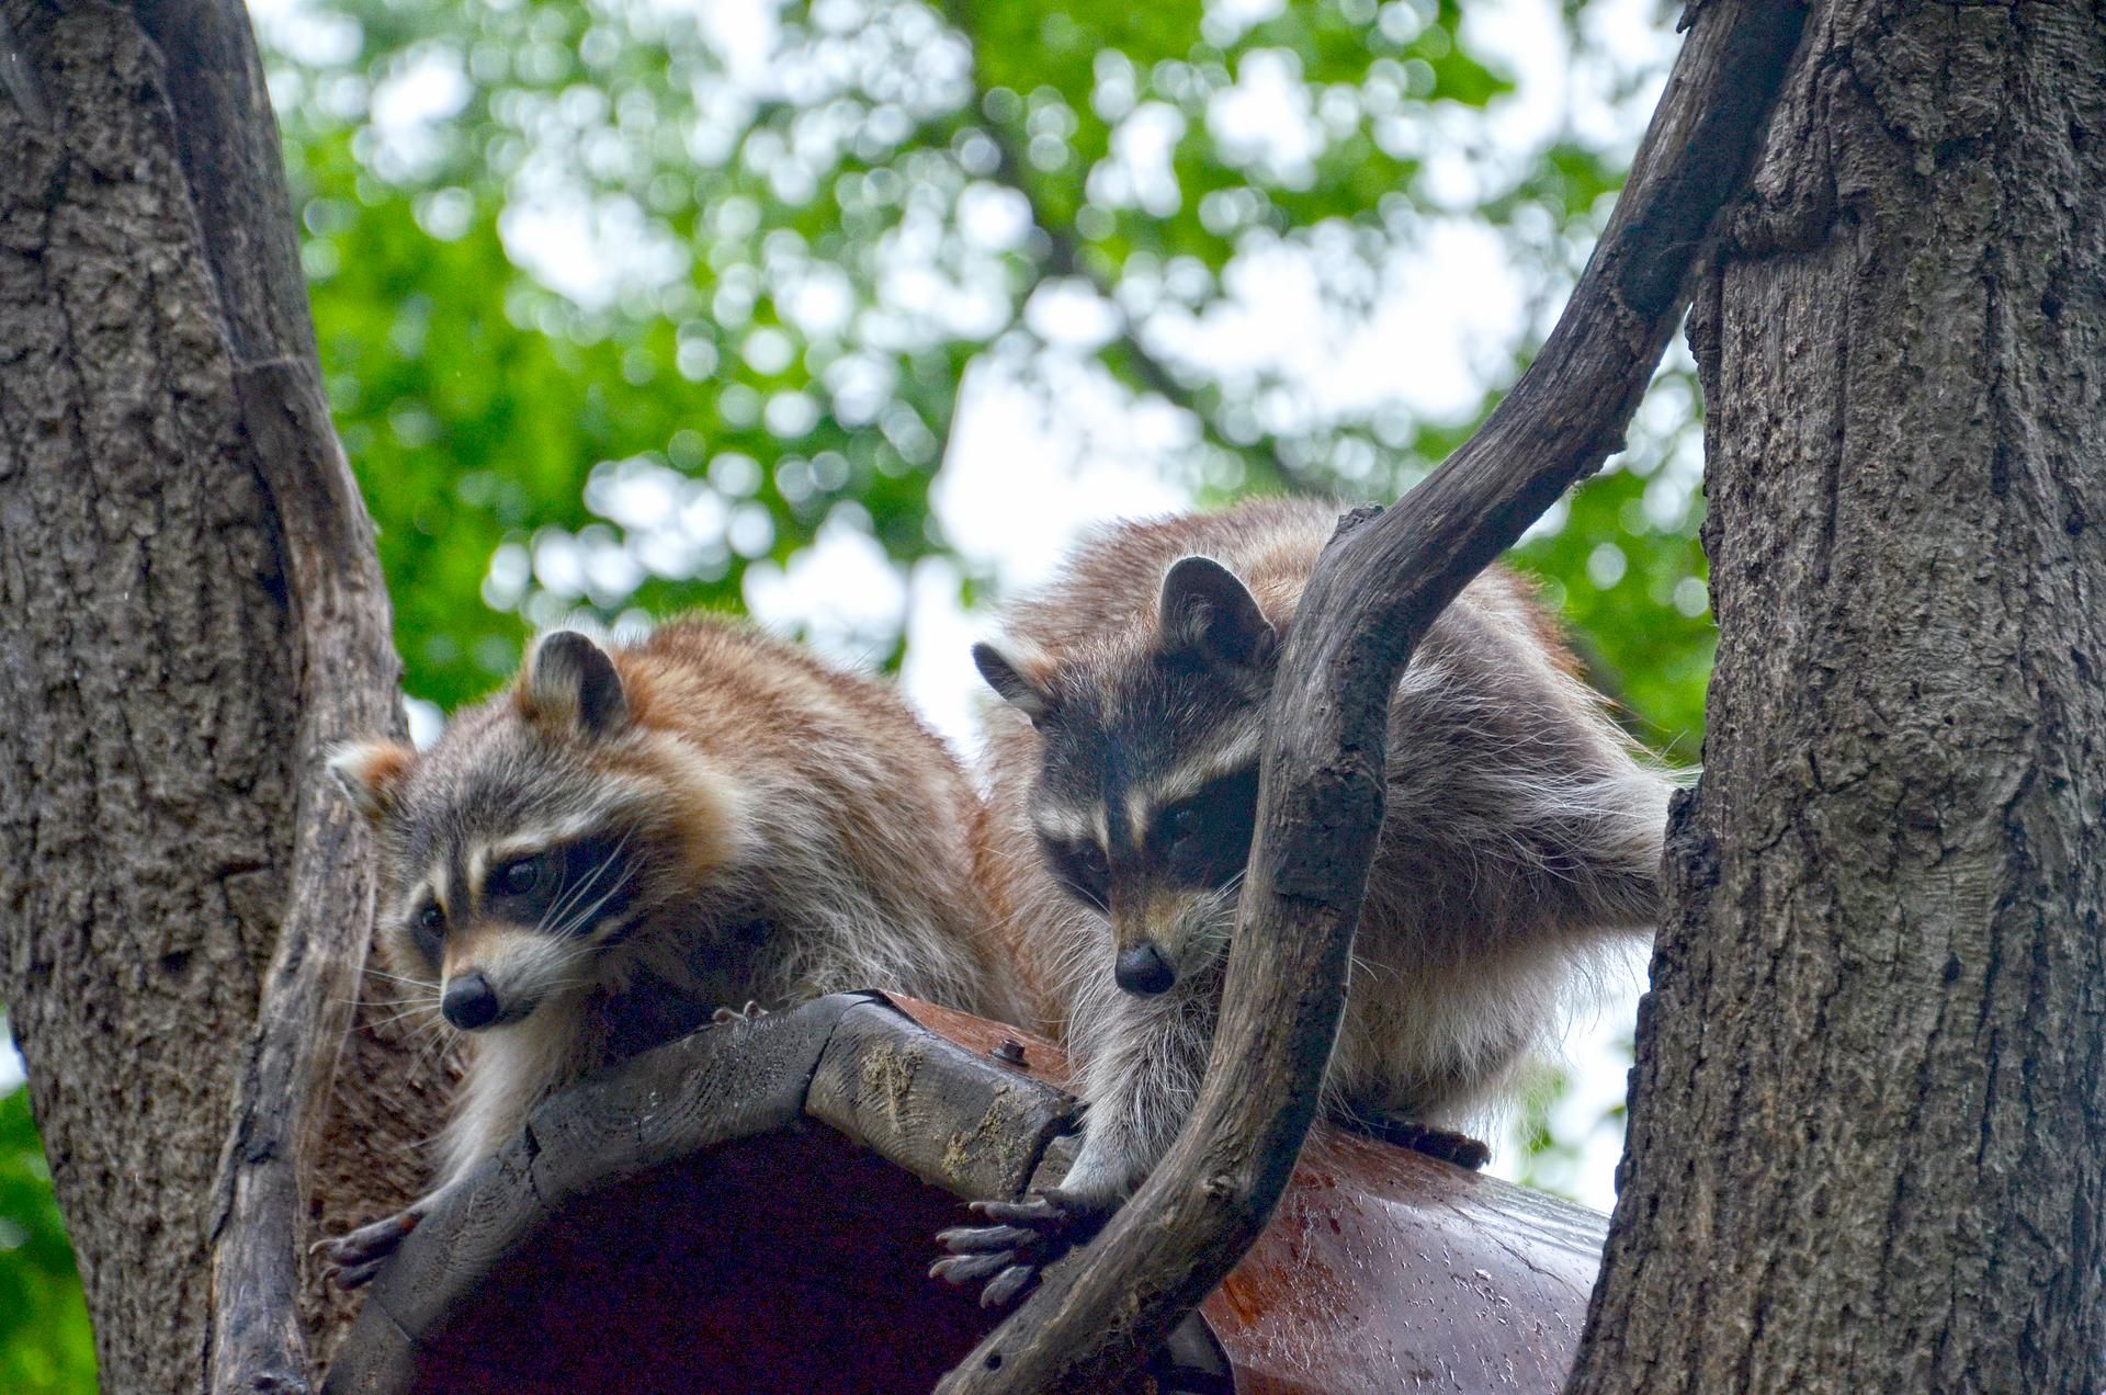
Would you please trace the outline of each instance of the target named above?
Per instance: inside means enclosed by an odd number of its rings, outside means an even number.
[[[579,609],[737,609],[821,537],[901,575],[952,556],[931,487],[992,388],[1034,405],[1013,430],[1076,459],[1146,440],[1200,499],[1392,497],[1563,303],[1672,53],[1660,19],[1651,0],[257,4],[409,691],[476,698]],[[1491,249],[1485,287],[1453,284],[1481,261],[1441,263],[1457,236]],[[1485,318],[1434,373],[1398,306],[1443,280]],[[1432,377],[1453,381],[1428,396]],[[1681,759],[1712,649],[1693,417],[1670,367],[1632,449],[1521,556]],[[998,567],[943,575],[973,603]],[[861,638],[897,660],[903,636],[901,613]],[[88,1389],[25,1138],[17,1092],[0,1384]]]

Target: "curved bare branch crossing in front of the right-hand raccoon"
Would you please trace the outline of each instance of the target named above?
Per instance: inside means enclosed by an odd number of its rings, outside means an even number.
[[[1691,6],[1624,196],[1537,360],[1441,470],[1325,550],[1272,691],[1198,1104],[1104,1235],[943,1380],[948,1395],[1118,1389],[1272,1216],[1346,1001],[1396,679],[1470,577],[1622,447],[1803,23],[1796,0]]]

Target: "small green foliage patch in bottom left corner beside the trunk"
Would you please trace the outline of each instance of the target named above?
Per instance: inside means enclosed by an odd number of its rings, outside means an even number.
[[[4,1037],[0,1037],[4,1043]],[[29,1119],[29,1089],[0,1096],[0,1391],[95,1389],[95,1338],[51,1172]]]

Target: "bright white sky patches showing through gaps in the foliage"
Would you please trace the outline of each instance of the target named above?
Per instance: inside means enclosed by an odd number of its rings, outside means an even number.
[[[746,72],[756,89],[769,80],[771,0],[659,2],[695,8],[735,76]],[[1209,4],[1207,23],[1236,34],[1276,6],[1278,0],[1217,0]],[[270,44],[307,59],[341,55],[347,38],[356,38],[341,21],[316,15],[307,0],[255,0],[251,11]],[[1575,70],[1565,53],[1556,0],[1468,6],[1468,46],[1504,61],[1518,86],[1483,118],[1455,114],[1457,122],[1483,122],[1468,139],[1457,129],[1457,139],[1445,141],[1441,122],[1434,124],[1424,152],[1434,196],[1468,209],[1481,185],[1499,183],[1512,162],[1537,150],[1567,116],[1584,139],[1634,145],[1657,97],[1657,74],[1674,48],[1660,11],[1657,0],[1590,4],[1586,21],[1603,40],[1594,51],[1613,55],[1613,70]],[[375,93],[375,124],[388,141],[400,143],[402,158],[415,158],[432,124],[459,107],[463,80],[459,70],[430,65]],[[1280,169],[1306,158],[1312,120],[1299,82],[1261,61],[1247,63],[1236,89],[1209,112],[1219,139],[1249,160]],[[1173,137],[1175,131],[1150,120],[1122,131],[1120,154],[1129,169],[1122,177],[1141,207],[1163,196],[1158,171],[1167,171],[1163,150]],[[1504,166],[1502,152],[1512,152]],[[977,215],[984,236],[998,242],[1005,217],[1013,219],[1013,211],[990,202]],[[562,202],[508,217],[505,236],[522,266],[583,301],[609,293],[590,270],[581,272],[607,263],[594,255],[596,238],[636,244],[632,230],[592,228],[588,215]],[[657,249],[647,255],[682,253]],[[1245,257],[1226,278],[1228,301],[1169,335],[1163,348],[1230,379],[1259,371],[1287,375],[1318,413],[1400,405],[1422,419],[1455,419],[1472,411],[1487,381],[1510,360],[1527,316],[1542,312],[1525,303],[1499,242],[1464,215],[1432,217],[1422,244],[1382,268],[1379,310],[1350,331],[1318,310],[1314,287],[1325,270],[1320,249]],[[813,284],[813,295],[823,297],[823,278]],[[899,293],[916,295],[914,280],[901,280]],[[925,295],[943,293],[931,278]],[[1005,590],[1049,575],[1089,523],[1188,504],[1188,491],[1167,483],[1154,461],[1163,447],[1190,438],[1192,421],[1160,402],[1135,405],[1101,373],[1082,367],[1087,350],[1108,333],[1108,316],[1106,306],[1080,293],[1040,295],[1032,303],[1032,327],[1051,343],[1076,350],[1061,417],[1051,428],[1040,398],[1002,369],[981,365],[967,377],[933,502],[946,535],[969,563],[992,569]],[[748,571],[748,605],[756,617],[775,626],[802,622],[821,649],[842,660],[863,657],[868,634],[893,630],[906,615],[906,691],[939,731],[971,750],[979,679],[967,651],[988,630],[988,620],[960,613],[954,596],[950,563],[925,563],[901,577],[855,527],[828,529],[819,546],[786,571],[773,565]],[[419,710],[415,725],[430,735],[436,716],[430,708]],[[1613,1203],[1611,1174],[1622,1148],[1620,1129],[1601,1127],[1601,1119],[1624,1098],[1628,1058],[1615,1043],[1630,1030],[1634,976],[1624,980],[1575,1024],[1571,1089],[1552,1119],[1552,1132],[1580,1148],[1580,1163],[1563,1184],[1598,1207]],[[0,1049],[0,1089],[17,1077],[19,1060]],[[1502,1155],[1512,1159],[1516,1148],[1502,1148]]]

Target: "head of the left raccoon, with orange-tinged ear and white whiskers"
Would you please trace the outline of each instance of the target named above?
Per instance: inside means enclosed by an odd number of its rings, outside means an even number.
[[[695,818],[697,799],[724,792],[668,788],[657,740],[630,721],[607,653],[558,632],[512,693],[457,714],[430,752],[337,752],[331,769],[381,830],[381,946],[436,988],[446,1022],[510,1026],[590,990],[604,950],[663,904],[668,875],[710,856],[697,826],[729,837],[729,816]]]

